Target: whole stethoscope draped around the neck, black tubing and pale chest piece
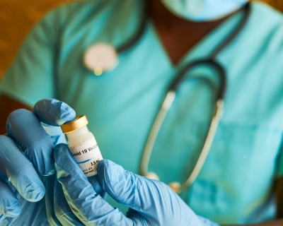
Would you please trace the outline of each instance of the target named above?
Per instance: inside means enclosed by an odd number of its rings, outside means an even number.
[[[217,127],[219,125],[219,121],[224,114],[226,71],[224,70],[223,66],[217,63],[215,59],[216,59],[216,55],[219,54],[219,52],[221,52],[229,43],[231,43],[232,40],[238,35],[238,33],[241,32],[243,26],[246,25],[246,22],[248,21],[248,17],[250,16],[250,4],[249,3],[246,4],[243,10],[244,10],[244,15],[241,18],[238,25],[236,26],[236,28],[234,28],[231,34],[228,37],[226,37],[226,39],[219,45],[219,47],[217,47],[214,50],[214,52],[212,52],[210,57],[208,57],[207,59],[198,59],[190,62],[189,64],[183,67],[183,69],[177,74],[177,76],[175,76],[175,79],[169,86],[168,92],[165,98],[163,99],[163,102],[161,104],[158,113],[156,114],[154,123],[151,126],[151,131],[149,132],[149,136],[147,138],[146,145],[144,147],[144,152],[141,157],[139,169],[140,169],[140,174],[142,176],[149,177],[151,179],[158,179],[157,174],[155,174],[154,172],[148,172],[149,160],[158,133],[161,129],[164,119],[166,118],[166,114],[168,113],[169,109],[171,109],[171,106],[175,100],[176,93],[178,91],[178,87],[180,86],[180,83],[182,83],[185,80],[185,78],[187,77],[186,76],[187,73],[189,71],[192,71],[192,69],[195,69],[197,66],[206,65],[215,69],[218,72],[218,76],[220,78],[219,92],[216,95],[216,105],[214,109],[214,114],[212,116],[212,120],[207,132],[207,138],[204,141],[204,145],[202,147],[200,157],[197,160],[194,169],[192,169],[192,173],[190,174],[190,177],[188,177],[183,184],[180,184],[179,182],[171,182],[170,184],[168,184],[177,193],[180,193],[180,191],[183,191],[188,187],[190,187],[190,185],[197,178],[197,175],[200,173],[200,170],[202,169],[202,166],[204,165],[204,162],[207,159],[209,150],[212,147],[212,142],[214,140],[214,136]],[[139,27],[139,30],[137,30],[136,34],[133,35],[133,37],[130,40],[125,42],[125,44],[122,44],[120,47],[116,49],[107,43],[98,43],[89,47],[86,51],[86,54],[84,55],[84,64],[86,68],[93,71],[93,73],[95,73],[96,76],[100,76],[105,71],[111,71],[115,69],[115,66],[117,66],[118,64],[118,57],[117,57],[118,54],[120,54],[121,52],[125,52],[127,49],[133,47],[134,44],[137,44],[140,37],[144,33],[144,30],[146,28],[146,13],[144,14],[145,15],[144,18],[142,18],[141,20],[141,25]]]

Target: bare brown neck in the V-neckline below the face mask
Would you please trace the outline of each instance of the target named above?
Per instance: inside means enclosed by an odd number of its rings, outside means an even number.
[[[225,18],[212,22],[194,22],[173,15],[159,0],[149,0],[149,13],[173,64],[202,37],[212,31]]]

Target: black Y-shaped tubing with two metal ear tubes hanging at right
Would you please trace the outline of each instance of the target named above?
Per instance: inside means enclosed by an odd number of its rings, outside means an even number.
[[[224,67],[221,66],[218,62],[216,62],[214,59],[216,58],[216,55],[221,52],[231,41],[238,35],[238,33],[243,29],[244,25],[246,25],[246,22],[248,21],[248,18],[250,16],[250,4],[246,4],[244,7],[244,15],[243,18],[241,18],[240,23],[236,26],[236,28],[231,32],[229,37],[222,42],[219,47],[217,47],[214,52],[210,55],[208,59],[198,59],[195,61],[190,62],[186,66],[183,67],[183,69],[178,73],[178,75],[175,77],[173,82],[168,88],[168,93],[166,97],[163,100],[163,103],[161,105],[161,108],[159,109],[156,119],[154,120],[154,123],[151,127],[151,131],[149,132],[148,139],[146,141],[146,145],[144,147],[144,153],[141,156],[141,162],[140,162],[140,174],[143,176],[146,176],[148,172],[149,167],[149,160],[151,157],[152,150],[154,149],[154,144],[156,142],[156,138],[158,136],[158,133],[161,129],[161,126],[163,124],[163,121],[166,118],[166,114],[168,113],[169,109],[173,105],[173,102],[176,97],[176,93],[178,91],[178,87],[180,86],[180,83],[182,83],[185,78],[187,77],[188,71],[192,70],[196,66],[200,65],[207,65],[211,66],[218,72],[219,81],[220,81],[220,87],[219,92],[216,95],[216,107],[214,109],[214,115],[212,117],[212,121],[209,126],[209,130],[207,132],[207,138],[204,141],[204,145],[202,147],[202,151],[200,153],[200,157],[197,160],[197,163],[192,169],[192,173],[190,174],[190,177],[180,185],[177,192],[183,191],[190,187],[190,185],[195,181],[198,174],[200,173],[200,170],[202,169],[202,166],[204,165],[205,160],[207,159],[207,155],[209,153],[209,150],[212,146],[212,142],[214,140],[216,130],[219,125],[219,121],[221,117],[224,114],[224,97],[226,93],[226,71],[224,70]]]

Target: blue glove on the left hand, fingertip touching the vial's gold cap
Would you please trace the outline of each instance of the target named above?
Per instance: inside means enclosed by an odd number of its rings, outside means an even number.
[[[0,136],[0,225],[46,225],[45,187],[53,191],[55,172],[53,148],[64,141],[57,127],[50,137],[44,124],[59,126],[75,118],[74,109],[58,100],[37,102],[34,112],[18,109]],[[51,131],[50,131],[51,132]]]

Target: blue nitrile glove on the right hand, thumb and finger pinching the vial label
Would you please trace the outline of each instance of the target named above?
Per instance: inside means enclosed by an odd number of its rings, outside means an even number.
[[[118,203],[129,207],[125,216],[96,194],[67,145],[54,148],[54,160],[59,182],[55,184],[54,197],[60,199],[54,201],[54,206],[62,225],[218,225],[195,215],[166,184],[128,172],[110,160],[101,160],[97,183]]]

